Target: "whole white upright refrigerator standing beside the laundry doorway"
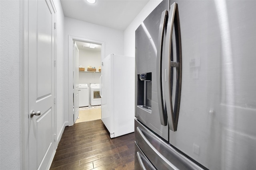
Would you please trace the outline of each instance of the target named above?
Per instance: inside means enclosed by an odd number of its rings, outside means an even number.
[[[101,119],[110,138],[134,132],[134,57],[110,54],[100,77]]]

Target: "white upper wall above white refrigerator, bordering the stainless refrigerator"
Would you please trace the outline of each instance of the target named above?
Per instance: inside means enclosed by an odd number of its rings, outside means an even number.
[[[124,30],[124,55],[135,57],[135,31],[162,0],[150,0]]]

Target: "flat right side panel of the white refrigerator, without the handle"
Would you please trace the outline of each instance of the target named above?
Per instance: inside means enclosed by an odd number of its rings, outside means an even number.
[[[134,57],[114,55],[114,137],[134,132]]]

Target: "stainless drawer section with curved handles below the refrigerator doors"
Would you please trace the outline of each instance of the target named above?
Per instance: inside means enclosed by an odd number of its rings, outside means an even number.
[[[138,149],[135,150],[135,155],[141,155],[137,156],[137,160],[135,159],[135,167],[143,167],[138,159],[141,157],[144,160],[141,162],[145,162],[145,164],[151,162],[154,168],[158,170],[202,170],[202,168],[182,156],[137,120],[135,120],[134,124],[135,143],[138,146]],[[147,159],[145,159],[144,155],[146,155]]]

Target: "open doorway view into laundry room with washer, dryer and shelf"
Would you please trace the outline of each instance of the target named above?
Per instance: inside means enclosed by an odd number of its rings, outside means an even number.
[[[101,45],[75,41],[79,49],[79,117],[75,123],[101,119],[99,95],[101,76]],[[96,85],[96,88],[94,88]],[[98,95],[97,95],[98,94]]]

